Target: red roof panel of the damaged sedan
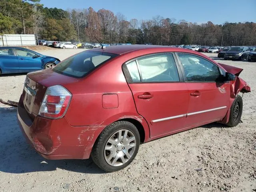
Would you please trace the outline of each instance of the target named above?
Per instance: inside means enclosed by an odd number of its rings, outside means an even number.
[[[106,48],[94,48],[90,51],[98,51],[98,52],[107,52],[107,53],[112,53],[112,54],[118,54],[122,55],[125,53],[129,52],[135,52],[139,50],[145,50],[145,49],[157,49],[158,52],[160,49],[163,49],[165,52],[166,49],[170,52],[181,52],[182,48],[176,48],[176,47],[170,47],[170,46],[162,46],[162,45],[112,45],[112,46],[107,46]],[[182,51],[183,52],[183,51]]]

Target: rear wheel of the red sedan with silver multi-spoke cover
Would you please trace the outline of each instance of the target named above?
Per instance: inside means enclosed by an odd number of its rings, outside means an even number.
[[[124,134],[129,137],[124,139]],[[118,139],[119,135],[121,135],[120,139]],[[128,142],[129,138],[134,140]],[[126,147],[129,149],[126,150]],[[127,121],[118,121],[110,124],[101,132],[92,148],[91,157],[102,170],[115,172],[125,168],[134,160],[139,147],[140,134],[136,126]]]

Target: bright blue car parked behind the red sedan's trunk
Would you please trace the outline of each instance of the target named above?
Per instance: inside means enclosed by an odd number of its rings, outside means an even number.
[[[29,49],[0,47],[0,74],[50,69],[59,62],[58,58],[44,56]]]

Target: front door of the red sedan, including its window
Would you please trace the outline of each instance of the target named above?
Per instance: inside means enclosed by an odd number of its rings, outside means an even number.
[[[189,90],[186,127],[220,120],[229,108],[230,83],[217,83],[216,64],[194,54],[177,53]]]

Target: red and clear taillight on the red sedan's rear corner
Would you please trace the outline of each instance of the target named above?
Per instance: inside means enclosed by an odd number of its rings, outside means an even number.
[[[58,119],[62,118],[70,103],[72,94],[61,85],[48,87],[38,115]]]

